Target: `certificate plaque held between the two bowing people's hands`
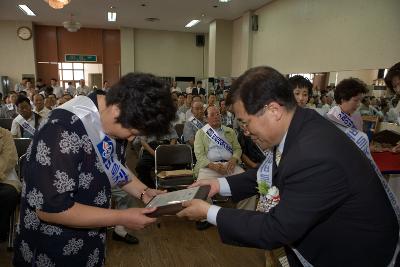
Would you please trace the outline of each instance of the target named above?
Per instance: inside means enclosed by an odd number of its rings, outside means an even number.
[[[192,199],[207,199],[210,188],[209,185],[203,185],[157,195],[146,206],[146,208],[157,207],[157,209],[147,216],[155,218],[163,215],[175,215],[183,209],[182,202]]]

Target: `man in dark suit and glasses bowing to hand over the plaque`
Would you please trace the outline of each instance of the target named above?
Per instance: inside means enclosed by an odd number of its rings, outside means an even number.
[[[314,110],[297,107],[287,80],[269,67],[239,77],[228,102],[245,134],[274,153],[270,200],[275,204],[261,212],[192,200],[178,216],[207,218],[227,244],[284,246],[291,267],[304,264],[292,249],[314,266],[388,266],[398,242],[397,218],[355,143]],[[257,180],[252,169],[193,186],[210,184],[210,196],[219,192],[239,201],[257,194]]]

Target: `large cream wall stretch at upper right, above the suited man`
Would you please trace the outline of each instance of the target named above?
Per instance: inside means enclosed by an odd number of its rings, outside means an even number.
[[[279,0],[255,11],[252,65],[283,73],[387,68],[400,61],[400,1]]]

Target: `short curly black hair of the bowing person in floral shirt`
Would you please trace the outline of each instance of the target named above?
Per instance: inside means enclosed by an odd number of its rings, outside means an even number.
[[[176,107],[170,88],[152,74],[128,73],[106,95],[106,105],[121,111],[117,122],[144,135],[167,134]]]

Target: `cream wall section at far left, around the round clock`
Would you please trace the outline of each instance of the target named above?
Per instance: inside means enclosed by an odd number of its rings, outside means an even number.
[[[21,81],[22,74],[36,74],[33,37],[26,41],[18,38],[21,26],[32,29],[32,22],[0,21],[0,76],[8,76],[10,89]]]

